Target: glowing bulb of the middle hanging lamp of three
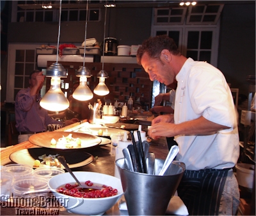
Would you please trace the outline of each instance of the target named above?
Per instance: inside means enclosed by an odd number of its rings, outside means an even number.
[[[93,94],[92,91],[89,89],[86,76],[80,76],[79,78],[79,86],[76,88],[76,90],[73,92],[74,99],[77,99],[79,101],[88,101],[92,99]]]

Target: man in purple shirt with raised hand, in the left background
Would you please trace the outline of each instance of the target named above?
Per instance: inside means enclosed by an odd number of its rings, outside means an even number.
[[[28,89],[22,89],[17,93],[15,99],[16,128],[19,131],[18,142],[27,141],[29,136],[35,133],[47,131],[48,124],[62,124],[68,126],[79,119],[66,120],[65,122],[54,120],[49,117],[47,110],[39,104],[42,97],[40,90],[44,84],[42,71],[35,70],[29,75]]]

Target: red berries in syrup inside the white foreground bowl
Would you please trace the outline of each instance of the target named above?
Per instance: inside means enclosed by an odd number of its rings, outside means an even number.
[[[118,192],[111,186],[94,184],[90,180],[82,183],[82,187],[79,187],[77,183],[65,184],[58,187],[56,191],[76,198],[106,198],[115,196]]]

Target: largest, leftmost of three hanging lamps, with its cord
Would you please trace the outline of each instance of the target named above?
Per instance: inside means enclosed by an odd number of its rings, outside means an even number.
[[[46,71],[46,77],[51,77],[51,88],[44,95],[40,101],[40,106],[45,108],[45,110],[58,112],[61,110],[66,110],[69,106],[67,97],[60,89],[60,78],[66,78],[67,72],[63,66],[58,63],[59,55],[59,43],[60,43],[60,22],[61,22],[61,0],[60,0],[60,16],[59,16],[59,31],[58,31],[58,45],[57,45],[57,55],[56,62],[52,63]]]

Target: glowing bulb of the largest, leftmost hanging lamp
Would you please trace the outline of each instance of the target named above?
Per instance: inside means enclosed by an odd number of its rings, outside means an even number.
[[[60,77],[51,78],[51,88],[40,101],[40,106],[45,108],[45,110],[54,112],[66,110],[68,108],[68,99],[60,89]]]

